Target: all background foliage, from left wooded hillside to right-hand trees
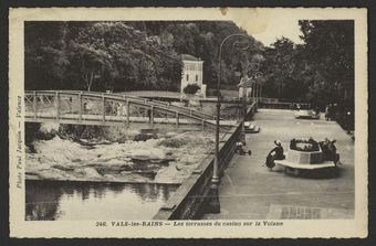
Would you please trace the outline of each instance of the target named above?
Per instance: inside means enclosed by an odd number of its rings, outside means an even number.
[[[353,21],[300,21],[303,44],[282,38],[270,47],[249,36],[249,49],[222,49],[222,89],[257,66],[263,96],[353,107]],[[216,88],[220,42],[246,31],[233,22],[25,22],[25,89],[179,92],[181,54],[203,61],[203,83]],[[241,43],[239,46],[244,46]],[[239,73],[240,72],[240,73]]]

